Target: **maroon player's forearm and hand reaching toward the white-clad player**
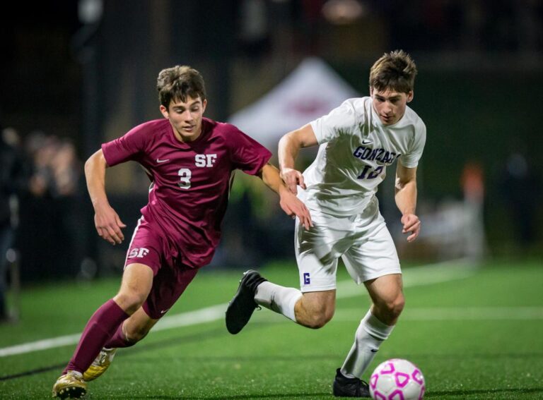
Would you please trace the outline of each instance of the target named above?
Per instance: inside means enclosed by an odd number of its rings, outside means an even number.
[[[271,164],[264,165],[259,172],[259,177],[262,178],[266,186],[279,194],[279,205],[281,205],[281,208],[287,215],[293,218],[298,217],[303,226],[305,226],[305,229],[313,226],[308,208],[305,207],[305,204],[296,195],[288,190],[279,176],[279,170],[275,166]]]

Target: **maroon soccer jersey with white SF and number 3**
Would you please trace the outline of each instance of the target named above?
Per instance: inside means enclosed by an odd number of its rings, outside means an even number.
[[[228,123],[202,120],[194,142],[175,138],[168,119],[148,121],[102,145],[108,166],[133,160],[152,183],[144,219],[163,231],[169,253],[189,267],[209,264],[221,236],[235,169],[255,175],[271,157]]]

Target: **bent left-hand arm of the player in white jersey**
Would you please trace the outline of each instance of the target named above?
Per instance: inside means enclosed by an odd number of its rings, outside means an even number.
[[[298,193],[298,188],[305,189],[303,175],[300,171],[294,169],[298,152],[303,147],[317,145],[317,138],[313,132],[313,128],[308,123],[296,131],[291,131],[284,135],[279,140],[279,168],[281,168],[281,178],[286,183],[288,190],[291,190],[295,195]]]

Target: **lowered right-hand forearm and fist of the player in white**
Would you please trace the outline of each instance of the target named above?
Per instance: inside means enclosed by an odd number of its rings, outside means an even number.
[[[407,168],[398,162],[396,168],[395,200],[400,212],[402,212],[402,233],[407,236],[407,241],[414,241],[421,231],[421,221],[416,216],[416,167]]]

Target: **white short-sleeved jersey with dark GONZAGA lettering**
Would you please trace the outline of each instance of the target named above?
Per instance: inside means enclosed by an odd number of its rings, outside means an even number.
[[[396,159],[403,166],[419,164],[426,126],[406,107],[394,125],[385,126],[371,97],[347,99],[326,116],[311,122],[320,145],[303,173],[306,190],[300,198],[313,210],[346,216],[363,212]]]

